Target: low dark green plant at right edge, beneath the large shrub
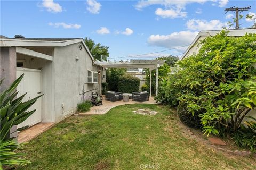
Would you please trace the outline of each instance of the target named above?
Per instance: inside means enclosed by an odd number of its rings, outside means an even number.
[[[247,128],[241,125],[237,132],[235,132],[234,139],[238,146],[256,152],[256,118],[248,117],[255,121],[246,121]]]

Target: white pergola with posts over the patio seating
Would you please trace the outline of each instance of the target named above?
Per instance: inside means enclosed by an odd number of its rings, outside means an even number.
[[[149,69],[149,94],[151,96],[151,72],[156,69],[156,95],[158,92],[158,68],[164,65],[164,60],[130,60],[127,61],[119,61],[119,62],[111,62],[111,61],[99,61],[96,60],[94,64],[99,65],[103,68],[138,68],[138,69]]]

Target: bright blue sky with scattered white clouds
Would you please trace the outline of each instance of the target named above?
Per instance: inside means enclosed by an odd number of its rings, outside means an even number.
[[[0,34],[89,37],[109,46],[110,58],[125,57],[189,45],[198,31],[221,29],[231,21],[234,13],[223,10],[232,6],[252,6],[242,14],[256,13],[256,1],[1,1]],[[240,23],[243,28],[253,24],[246,19]],[[179,55],[186,48],[127,58]]]

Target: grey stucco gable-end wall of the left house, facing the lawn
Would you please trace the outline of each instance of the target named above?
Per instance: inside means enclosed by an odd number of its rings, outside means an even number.
[[[83,95],[81,95],[83,88],[84,91],[98,88],[98,83],[87,83],[87,69],[98,72],[98,67],[93,66],[92,60],[84,46],[83,50],[79,51],[79,44],[82,45],[82,43],[76,43],[65,47],[55,47],[54,49],[55,122],[63,120],[63,118],[76,111],[77,103],[79,103],[83,97]],[[79,57],[79,61],[76,61],[76,56]],[[78,87],[79,62],[80,91]],[[94,91],[98,91],[98,89]],[[85,97],[90,99],[91,92],[92,91],[87,92]],[[63,108],[62,104],[64,105]]]

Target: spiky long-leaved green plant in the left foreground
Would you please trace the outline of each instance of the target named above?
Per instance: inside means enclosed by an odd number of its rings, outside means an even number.
[[[37,96],[25,102],[23,102],[22,99],[26,94],[17,98],[18,92],[16,88],[23,77],[24,74],[0,94],[0,170],[3,169],[2,166],[14,167],[15,165],[26,165],[30,163],[28,160],[22,158],[25,154],[17,154],[14,152],[19,149],[20,145],[15,142],[14,138],[10,138],[10,129],[12,126],[20,124],[32,115],[36,110],[27,111],[28,108],[42,96]],[[2,81],[0,81],[0,85]],[[19,128],[18,131],[26,128],[27,126]]]

